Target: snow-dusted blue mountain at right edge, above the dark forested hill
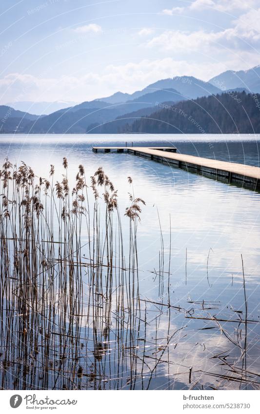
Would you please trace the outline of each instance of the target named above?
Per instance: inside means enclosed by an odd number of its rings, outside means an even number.
[[[260,92],[260,66],[240,71],[227,70],[210,79],[209,82],[222,90],[247,88],[251,92]]]

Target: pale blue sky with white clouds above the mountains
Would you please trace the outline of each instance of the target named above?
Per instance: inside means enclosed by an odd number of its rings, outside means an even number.
[[[260,64],[260,0],[0,3],[0,104],[97,99]]]

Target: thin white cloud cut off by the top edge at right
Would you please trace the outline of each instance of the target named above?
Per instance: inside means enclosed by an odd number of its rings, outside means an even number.
[[[187,7],[164,9],[162,13],[171,16],[189,10],[204,10],[207,7],[220,12],[231,12],[234,10],[249,10],[251,7],[257,7],[257,5],[258,0],[195,0]]]

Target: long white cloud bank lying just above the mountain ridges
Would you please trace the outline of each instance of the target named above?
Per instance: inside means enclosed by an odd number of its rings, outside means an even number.
[[[229,68],[229,67],[228,67]],[[247,68],[247,67],[246,67]],[[84,76],[38,78],[32,75],[12,73],[0,79],[0,102],[10,101],[84,101],[111,95],[117,91],[132,93],[159,79],[193,75],[209,79],[226,70],[220,63],[188,62],[185,60],[142,59],[122,65],[108,65],[101,73],[89,72]]]

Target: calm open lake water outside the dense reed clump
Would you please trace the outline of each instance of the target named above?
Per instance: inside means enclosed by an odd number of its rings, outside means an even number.
[[[163,292],[161,281],[156,276],[161,226],[165,267],[168,266],[171,239],[170,301],[185,309],[184,313],[171,311],[169,315],[167,307],[164,308],[160,325],[159,316],[156,316],[157,332],[153,323],[148,325],[146,364],[144,368],[142,366],[142,380],[136,380],[134,388],[244,388],[245,385],[239,381],[227,381],[220,376],[223,374],[221,360],[213,358],[220,353],[229,355],[226,361],[230,367],[243,369],[244,324],[240,324],[238,339],[238,323],[221,321],[224,330],[221,332],[220,326],[208,318],[212,315],[222,320],[245,318],[242,255],[248,318],[257,321],[248,324],[247,370],[260,374],[260,194],[130,154],[92,152],[92,145],[124,145],[125,141],[128,145],[132,145],[133,141],[136,146],[175,145],[180,153],[254,166],[259,166],[260,162],[260,136],[250,135],[1,135],[0,161],[2,164],[6,156],[18,165],[23,161],[39,177],[48,177],[50,164],[54,164],[58,179],[64,172],[62,158],[67,157],[71,181],[78,172],[79,164],[84,165],[87,177],[102,166],[118,189],[122,216],[129,204],[127,177],[131,176],[135,197],[141,197],[146,202],[138,229],[140,296],[167,303],[165,283],[168,275],[164,276]],[[127,244],[126,217],[122,219],[122,225]],[[149,302],[147,306],[147,317],[152,321],[158,305]],[[154,346],[153,340],[157,335],[161,338],[161,347],[165,346],[169,323],[170,332],[183,329],[178,334],[178,341],[174,339],[167,343],[167,358],[164,353],[153,371],[150,361],[157,357],[160,348],[158,344]],[[241,350],[232,342],[235,339],[239,341]],[[112,365],[111,374],[111,365],[108,368],[107,362],[104,362],[103,373],[108,380],[102,383],[102,388],[130,388],[127,363],[121,371],[120,386],[111,381],[112,377],[116,378],[117,362],[114,360]],[[232,372],[232,368],[230,370]],[[138,375],[140,371],[139,367]],[[247,387],[258,388],[257,382],[254,378]]]

